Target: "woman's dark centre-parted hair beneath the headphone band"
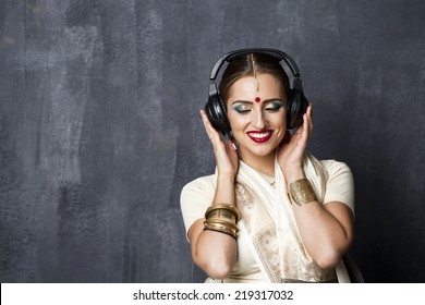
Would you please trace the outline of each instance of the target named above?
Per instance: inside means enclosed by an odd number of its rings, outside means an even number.
[[[256,73],[267,73],[278,78],[282,85],[283,96],[288,99],[290,88],[289,78],[279,61],[276,58],[264,53],[253,53],[253,59]],[[219,85],[219,91],[224,102],[229,97],[230,87],[234,82],[244,76],[254,76],[251,54],[235,57],[226,68]]]

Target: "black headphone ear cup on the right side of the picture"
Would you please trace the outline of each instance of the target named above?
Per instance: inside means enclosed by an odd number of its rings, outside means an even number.
[[[293,130],[303,124],[303,115],[307,111],[308,100],[303,94],[301,80],[294,81],[294,86],[290,89],[288,97],[287,127]]]

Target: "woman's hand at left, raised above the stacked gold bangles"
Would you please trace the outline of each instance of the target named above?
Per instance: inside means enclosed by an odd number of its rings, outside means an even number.
[[[227,143],[223,142],[219,132],[212,127],[204,110],[201,110],[201,118],[208,138],[212,144],[218,173],[231,174],[235,178],[239,168],[239,157],[236,150],[233,148],[233,143],[230,139]]]

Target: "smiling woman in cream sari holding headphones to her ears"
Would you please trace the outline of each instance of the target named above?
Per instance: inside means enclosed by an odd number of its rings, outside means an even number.
[[[289,100],[303,94],[295,63],[283,57],[295,76],[290,88],[279,54],[286,53],[254,49],[227,58],[217,94],[228,141],[201,111],[217,169],[184,186],[181,207],[207,282],[347,281],[341,258],[353,239],[352,174],[344,163],[306,151],[311,105],[296,131],[288,131],[298,119],[288,114]]]

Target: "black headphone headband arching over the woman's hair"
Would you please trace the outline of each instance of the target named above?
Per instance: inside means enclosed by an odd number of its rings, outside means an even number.
[[[211,81],[211,82],[216,81],[218,72],[220,71],[220,68],[224,64],[226,61],[230,62],[236,56],[248,54],[248,53],[268,54],[268,56],[276,58],[276,60],[278,60],[278,61],[283,60],[287,63],[287,65],[289,66],[289,69],[291,70],[291,72],[295,78],[299,78],[301,76],[299,66],[296,65],[295,61],[286,52],[283,52],[281,50],[277,50],[277,49],[250,48],[250,49],[234,50],[234,51],[231,51],[231,52],[224,54],[223,57],[221,57],[214,65],[214,68],[211,70],[211,74],[209,76],[209,81]]]

